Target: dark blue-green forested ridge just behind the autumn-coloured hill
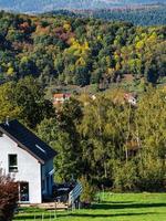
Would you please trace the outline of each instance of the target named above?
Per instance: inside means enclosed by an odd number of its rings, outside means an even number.
[[[165,25],[166,6],[142,6],[136,8],[117,8],[103,10],[56,10],[50,14],[63,14],[73,18],[85,17],[108,21],[128,21],[135,25]]]

